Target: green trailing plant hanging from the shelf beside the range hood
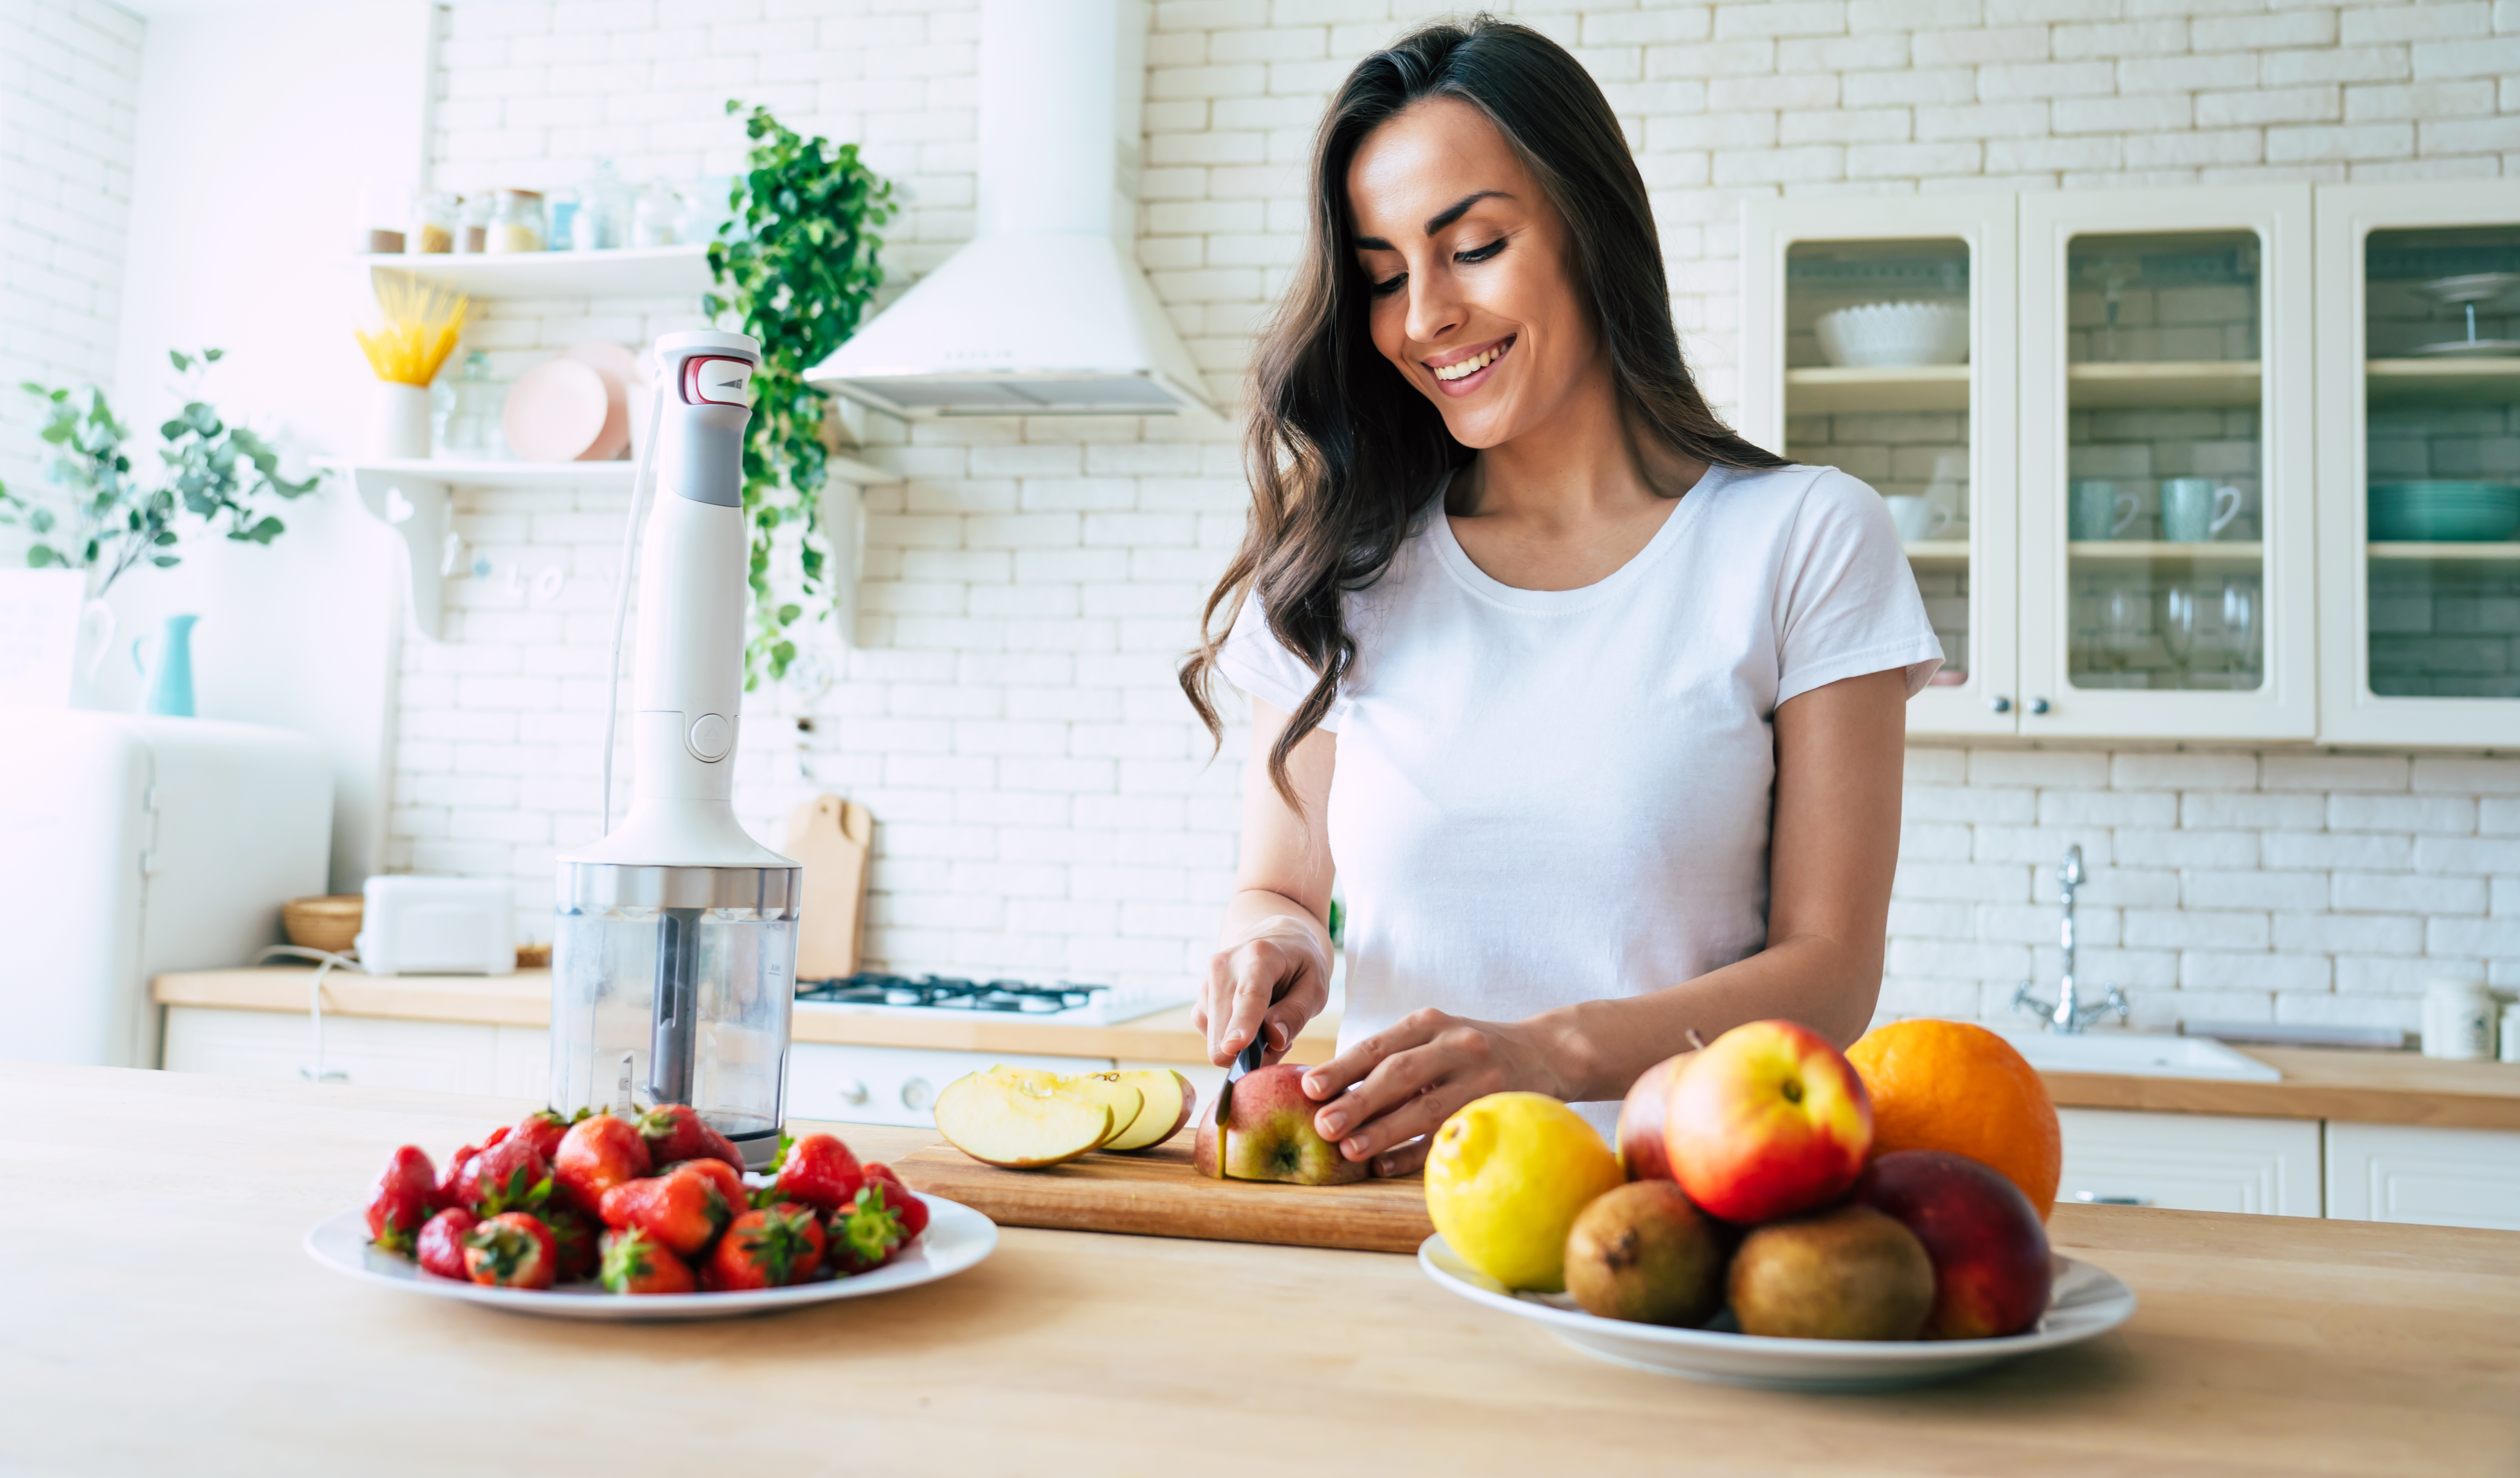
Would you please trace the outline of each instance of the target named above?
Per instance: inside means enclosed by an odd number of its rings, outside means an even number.
[[[726,111],[738,113],[743,103],[728,101]],[[885,280],[874,227],[892,219],[895,207],[892,182],[857,159],[857,144],[804,139],[769,108],[753,108],[743,134],[753,146],[726,199],[736,219],[721,227],[726,240],[708,245],[716,288],[701,308],[718,325],[761,340],[753,421],[743,439],[743,515],[753,530],[743,686],[756,689],[796,661],[789,628],[809,605],[814,620],[832,618],[822,532],[829,396],[804,383],[804,371],[867,318]],[[799,525],[799,600],[779,600],[771,583],[779,530],[789,525]]]

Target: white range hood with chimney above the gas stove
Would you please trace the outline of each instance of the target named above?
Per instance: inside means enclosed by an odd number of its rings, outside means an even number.
[[[1144,0],[983,0],[978,235],[806,381],[895,416],[1212,416],[1134,260],[1144,86]]]

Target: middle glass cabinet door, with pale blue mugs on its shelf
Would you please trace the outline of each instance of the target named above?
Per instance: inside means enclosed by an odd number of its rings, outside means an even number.
[[[2024,199],[2024,734],[2311,734],[2306,207]]]

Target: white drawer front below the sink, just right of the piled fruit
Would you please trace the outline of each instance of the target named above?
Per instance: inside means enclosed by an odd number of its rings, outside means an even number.
[[[2056,1110],[2056,1201],[2318,1216],[2318,1120]]]

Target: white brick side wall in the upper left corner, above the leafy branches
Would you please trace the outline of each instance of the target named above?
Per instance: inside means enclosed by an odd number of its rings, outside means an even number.
[[[18,386],[113,388],[141,30],[101,0],[0,0],[0,482],[18,489],[43,449]]]

